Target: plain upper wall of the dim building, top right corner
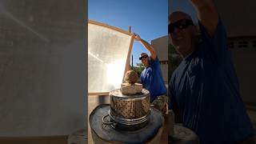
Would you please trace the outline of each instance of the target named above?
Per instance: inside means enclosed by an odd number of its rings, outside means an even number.
[[[256,35],[255,0],[215,0],[229,37]]]

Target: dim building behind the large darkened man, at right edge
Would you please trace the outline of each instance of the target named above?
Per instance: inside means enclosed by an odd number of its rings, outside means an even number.
[[[214,2],[226,27],[242,99],[256,106],[256,1]]]

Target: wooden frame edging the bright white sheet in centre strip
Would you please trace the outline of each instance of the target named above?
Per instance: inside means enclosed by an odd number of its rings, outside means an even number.
[[[133,33],[131,33],[131,31],[129,30],[129,31],[126,31],[126,30],[122,30],[122,29],[120,29],[120,28],[118,28],[118,27],[115,27],[115,26],[110,26],[110,25],[107,25],[107,24],[105,24],[105,23],[102,23],[102,22],[96,22],[96,21],[93,21],[93,20],[88,20],[88,23],[90,23],[90,24],[94,24],[94,25],[97,25],[97,26],[102,26],[102,27],[106,27],[106,28],[108,28],[108,29],[110,29],[110,30],[116,30],[116,31],[118,31],[118,32],[120,32],[120,33],[122,33],[122,34],[127,34],[127,35],[133,35]],[[134,38],[132,37],[132,38],[130,38],[130,45],[129,45],[129,49],[128,49],[128,54],[127,54],[127,58],[126,58],[126,66],[125,66],[125,71],[124,71],[124,76],[125,76],[125,74],[126,74],[126,71],[127,70],[130,70],[130,53],[131,53],[131,49],[132,49],[132,47],[133,47],[133,43],[134,43]],[[122,79],[122,82],[123,82],[123,79]],[[88,91],[88,95],[89,96],[97,96],[97,95],[109,95],[109,92],[99,92],[99,93],[90,93],[89,91]]]

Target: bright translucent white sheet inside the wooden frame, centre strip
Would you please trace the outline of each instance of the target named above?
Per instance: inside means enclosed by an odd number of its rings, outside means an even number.
[[[119,88],[126,67],[130,35],[88,23],[88,92]]]

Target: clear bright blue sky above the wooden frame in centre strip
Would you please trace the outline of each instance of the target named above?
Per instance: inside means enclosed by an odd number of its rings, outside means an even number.
[[[132,32],[147,42],[168,33],[168,0],[88,0],[88,18]],[[134,66],[147,50],[134,41]]]

